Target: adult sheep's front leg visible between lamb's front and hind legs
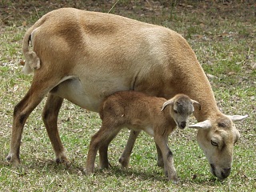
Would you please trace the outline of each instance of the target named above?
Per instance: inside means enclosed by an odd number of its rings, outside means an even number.
[[[140,132],[140,130],[130,130],[130,135],[126,143],[126,147],[123,150],[121,157],[118,159],[118,162],[120,162],[123,168],[129,167],[130,154],[134,148],[134,143]]]

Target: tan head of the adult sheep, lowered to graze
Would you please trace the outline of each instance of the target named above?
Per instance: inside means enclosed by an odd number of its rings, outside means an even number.
[[[234,144],[240,137],[234,122],[241,121],[246,117],[247,115],[218,114],[190,126],[198,129],[198,144],[206,155],[211,173],[219,179],[227,178],[230,175]]]

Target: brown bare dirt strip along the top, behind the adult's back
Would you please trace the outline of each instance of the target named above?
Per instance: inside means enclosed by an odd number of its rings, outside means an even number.
[[[75,7],[82,10],[110,12],[121,15],[141,15],[146,18],[151,16],[162,17],[167,10],[171,10],[166,17],[174,17],[175,13],[204,14],[206,11],[214,18],[236,17],[246,20],[256,16],[256,2],[254,0],[206,0],[206,1],[170,1],[170,0],[87,0],[87,1],[2,1],[0,2],[0,14],[2,25],[27,25],[30,24],[32,15],[41,17],[50,10],[61,7]],[[34,18],[37,20],[38,18]],[[33,19],[32,19],[33,20]]]

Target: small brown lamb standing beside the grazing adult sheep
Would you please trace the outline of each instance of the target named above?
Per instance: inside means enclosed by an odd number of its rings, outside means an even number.
[[[168,101],[136,91],[120,91],[110,95],[102,102],[100,108],[102,127],[91,139],[86,174],[94,172],[98,150],[101,168],[109,166],[108,146],[118,132],[127,127],[131,130],[144,130],[154,137],[162,152],[166,176],[169,180],[177,182],[173,154],[167,146],[168,136],[174,130],[172,127],[175,127],[175,124],[181,129],[185,128],[188,117],[194,111],[194,105],[200,110],[200,104],[185,94],[177,94]]]

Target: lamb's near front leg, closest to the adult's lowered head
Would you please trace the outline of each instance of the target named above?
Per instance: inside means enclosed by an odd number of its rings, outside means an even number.
[[[163,138],[162,135],[156,135],[154,137],[154,140],[162,152],[164,171],[166,176],[168,177],[168,180],[177,183],[178,176],[174,167],[174,157],[170,148],[167,146],[167,138]]]

